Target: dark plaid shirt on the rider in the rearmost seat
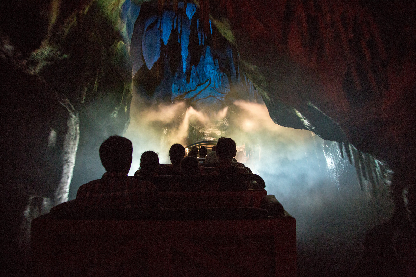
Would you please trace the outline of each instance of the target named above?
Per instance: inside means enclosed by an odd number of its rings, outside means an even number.
[[[160,208],[160,196],[156,186],[121,172],[106,172],[101,179],[79,187],[78,208]]]

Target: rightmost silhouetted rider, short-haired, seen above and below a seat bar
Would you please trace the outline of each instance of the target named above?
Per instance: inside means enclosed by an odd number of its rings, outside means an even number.
[[[233,165],[233,157],[237,154],[237,147],[234,140],[229,137],[223,137],[218,140],[215,154],[218,157],[220,168],[211,175],[233,175],[233,174],[248,174],[248,170],[244,167]],[[234,191],[247,189],[247,181],[227,181],[220,184],[221,191]]]

